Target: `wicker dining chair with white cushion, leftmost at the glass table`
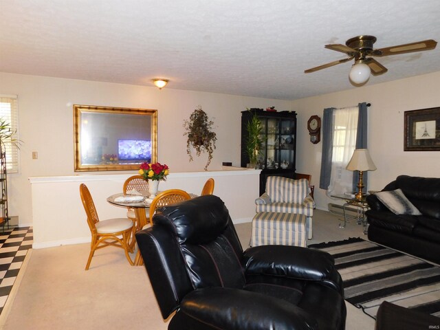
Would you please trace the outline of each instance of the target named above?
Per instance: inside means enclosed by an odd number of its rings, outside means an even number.
[[[133,232],[133,221],[126,218],[114,218],[100,221],[96,211],[94,200],[90,195],[89,188],[80,184],[80,196],[87,214],[87,223],[91,232],[90,254],[85,270],[89,270],[91,258],[95,251],[106,246],[122,248],[126,259],[133,265],[129,252],[133,252],[130,245],[130,237]]]

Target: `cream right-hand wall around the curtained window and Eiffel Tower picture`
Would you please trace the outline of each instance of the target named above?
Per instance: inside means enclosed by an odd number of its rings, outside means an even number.
[[[327,209],[327,203],[334,201],[319,188],[322,142],[309,142],[309,117],[322,118],[323,110],[329,107],[371,103],[368,148],[377,170],[369,172],[369,190],[384,188],[397,175],[440,177],[440,151],[404,151],[404,111],[439,107],[439,86],[440,72],[435,72],[292,101],[292,109],[300,113],[296,169],[300,173],[311,173],[318,208]]]

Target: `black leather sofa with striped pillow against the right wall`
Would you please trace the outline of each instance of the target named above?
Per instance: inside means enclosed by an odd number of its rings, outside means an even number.
[[[375,195],[366,197],[370,210],[369,240],[440,263],[440,179],[399,175],[382,191],[401,189],[421,215],[394,214]]]

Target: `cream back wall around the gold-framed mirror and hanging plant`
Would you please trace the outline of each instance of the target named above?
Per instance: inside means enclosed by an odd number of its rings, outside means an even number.
[[[72,104],[157,109],[158,161],[176,173],[203,170],[208,159],[208,155],[202,154],[190,163],[186,154],[184,120],[199,104],[214,120],[218,138],[209,170],[221,169],[222,162],[240,166],[241,111],[246,107],[275,106],[289,110],[290,102],[285,100],[181,91],[170,87],[172,82],[159,91],[154,86],[0,73],[0,94],[19,97],[19,137],[24,142],[20,150],[21,173],[8,176],[10,215],[18,215],[21,225],[32,224],[29,177],[83,174],[74,173]],[[38,152],[39,159],[32,159],[32,151]],[[247,193],[246,186],[238,189]]]

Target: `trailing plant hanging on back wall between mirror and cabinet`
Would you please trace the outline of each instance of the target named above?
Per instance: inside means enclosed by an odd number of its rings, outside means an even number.
[[[194,159],[191,155],[191,146],[195,148],[197,156],[200,156],[202,151],[207,152],[208,162],[205,170],[208,170],[215,149],[215,141],[217,140],[217,136],[212,131],[213,124],[214,122],[208,119],[208,115],[201,109],[200,105],[191,113],[190,119],[184,121],[184,128],[186,129],[184,135],[188,136],[186,153],[188,153],[190,162],[192,162]]]

